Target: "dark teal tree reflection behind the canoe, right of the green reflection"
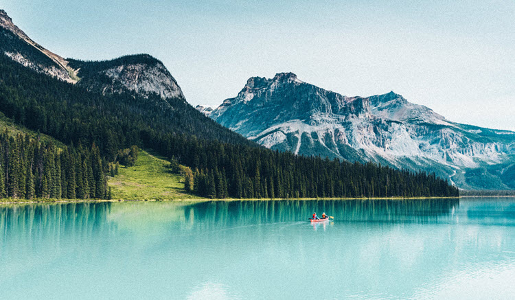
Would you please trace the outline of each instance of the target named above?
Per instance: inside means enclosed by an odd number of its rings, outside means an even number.
[[[335,222],[437,222],[459,207],[458,199],[212,201],[185,207],[185,218],[206,226],[308,220],[316,211]]]

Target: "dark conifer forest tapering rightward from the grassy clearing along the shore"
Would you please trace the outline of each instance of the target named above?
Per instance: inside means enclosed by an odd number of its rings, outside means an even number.
[[[186,188],[208,198],[459,196],[435,173],[395,170],[181,135],[146,132],[144,143],[183,165]]]

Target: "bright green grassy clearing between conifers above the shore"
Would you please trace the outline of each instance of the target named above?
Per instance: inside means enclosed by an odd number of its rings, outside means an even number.
[[[184,190],[183,176],[172,174],[164,159],[141,150],[133,167],[119,168],[118,174],[108,178],[113,199],[175,200],[198,198]]]

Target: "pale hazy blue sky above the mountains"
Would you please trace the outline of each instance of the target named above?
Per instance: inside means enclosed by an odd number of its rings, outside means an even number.
[[[159,58],[193,105],[235,97],[251,76],[292,71],[343,95],[393,90],[455,122],[515,130],[513,0],[0,0],[0,8],[61,56]]]

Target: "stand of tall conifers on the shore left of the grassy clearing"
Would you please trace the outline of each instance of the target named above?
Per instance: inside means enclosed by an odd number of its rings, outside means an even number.
[[[0,198],[109,198],[96,146],[57,148],[0,133]]]

